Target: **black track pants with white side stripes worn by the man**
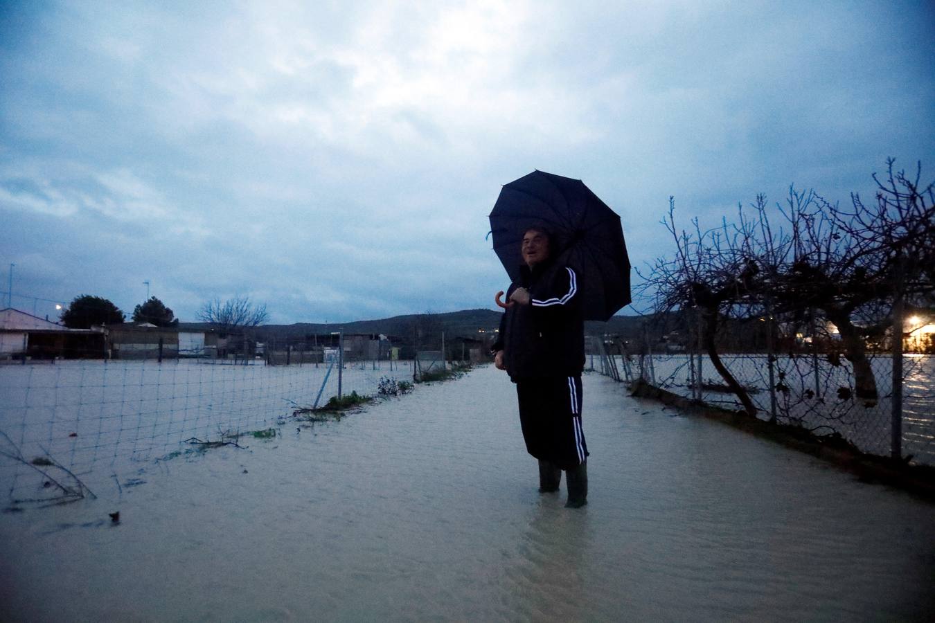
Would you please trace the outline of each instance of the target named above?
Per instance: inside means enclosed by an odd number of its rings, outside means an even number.
[[[516,381],[526,451],[567,470],[588,456],[582,430],[582,377]]]

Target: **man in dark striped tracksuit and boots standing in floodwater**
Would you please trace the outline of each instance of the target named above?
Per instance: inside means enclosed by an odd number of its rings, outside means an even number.
[[[523,235],[525,266],[507,290],[496,367],[516,384],[526,450],[539,460],[539,491],[557,491],[566,472],[570,508],[587,503],[582,431],[584,320],[578,275],[555,262],[544,227]],[[499,294],[497,294],[499,303]]]

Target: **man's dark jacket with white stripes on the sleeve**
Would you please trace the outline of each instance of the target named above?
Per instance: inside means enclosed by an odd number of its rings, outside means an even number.
[[[500,319],[492,350],[503,350],[513,381],[542,376],[581,375],[584,369],[584,319],[579,276],[568,266],[543,262],[523,266],[507,290],[529,290],[531,303],[513,304]]]

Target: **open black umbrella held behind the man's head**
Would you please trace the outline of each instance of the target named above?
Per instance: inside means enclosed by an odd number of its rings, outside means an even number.
[[[557,238],[558,262],[578,273],[584,319],[606,321],[630,302],[630,261],[620,217],[582,180],[534,171],[500,191],[490,229],[496,256],[514,281],[523,262],[523,234],[537,225]]]

